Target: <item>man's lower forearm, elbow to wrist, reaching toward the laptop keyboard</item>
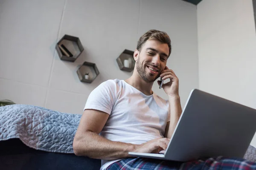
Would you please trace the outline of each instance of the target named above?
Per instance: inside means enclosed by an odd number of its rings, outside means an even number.
[[[135,146],[135,144],[113,142],[93,132],[76,136],[73,144],[76,155],[105,160],[131,157],[128,152],[134,151]]]

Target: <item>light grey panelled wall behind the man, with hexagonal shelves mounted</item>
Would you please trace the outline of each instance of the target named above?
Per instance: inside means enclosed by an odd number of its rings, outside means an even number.
[[[90,92],[107,79],[127,79],[116,58],[135,50],[149,29],[166,31],[173,52],[167,65],[180,79],[182,106],[198,88],[196,6],[182,0],[0,0],[0,99],[81,114]],[[76,62],[59,59],[64,34],[79,37]],[[99,76],[79,81],[77,68],[94,62]],[[153,91],[166,98],[157,83]]]

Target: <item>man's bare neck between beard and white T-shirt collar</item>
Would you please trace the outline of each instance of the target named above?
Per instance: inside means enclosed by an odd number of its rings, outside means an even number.
[[[152,86],[154,82],[146,82],[140,77],[140,75],[133,74],[130,78],[126,79],[125,82],[134,88],[137,88],[147,96],[153,94]]]

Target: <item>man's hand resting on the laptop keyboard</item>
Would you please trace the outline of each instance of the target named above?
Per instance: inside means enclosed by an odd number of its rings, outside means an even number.
[[[159,153],[161,150],[166,150],[170,139],[168,138],[157,138],[145,142],[143,144],[138,144],[135,147],[134,152],[139,153]]]

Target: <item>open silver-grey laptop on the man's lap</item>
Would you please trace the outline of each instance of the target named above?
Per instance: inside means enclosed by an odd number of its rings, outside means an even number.
[[[172,161],[243,158],[255,132],[255,109],[193,89],[165,152],[129,155]]]

